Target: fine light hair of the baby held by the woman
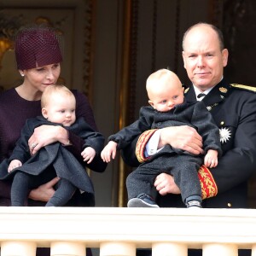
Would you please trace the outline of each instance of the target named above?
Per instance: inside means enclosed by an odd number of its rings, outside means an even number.
[[[41,108],[45,108],[49,101],[53,101],[54,100],[53,97],[56,94],[62,95],[62,96],[65,96],[65,97],[68,97],[68,96],[74,97],[73,92],[71,90],[69,90],[63,84],[48,85],[44,89],[44,92],[43,92],[42,97],[41,97]]]

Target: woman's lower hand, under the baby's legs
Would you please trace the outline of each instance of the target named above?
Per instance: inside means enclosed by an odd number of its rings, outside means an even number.
[[[54,186],[59,180],[59,177],[55,177],[48,183],[39,186],[38,189],[32,189],[28,197],[34,201],[49,201],[55,194]]]

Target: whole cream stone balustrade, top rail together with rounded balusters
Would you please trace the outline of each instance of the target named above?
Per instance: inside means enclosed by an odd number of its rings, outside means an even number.
[[[235,256],[239,248],[256,256],[256,210],[117,207],[0,207],[1,256],[35,256],[50,247],[52,256]]]

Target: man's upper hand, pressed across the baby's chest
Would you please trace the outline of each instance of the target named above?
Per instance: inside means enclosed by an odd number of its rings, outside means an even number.
[[[172,148],[188,151],[191,154],[203,154],[202,137],[194,128],[188,125],[162,128],[158,148],[162,148],[166,144],[171,145]]]

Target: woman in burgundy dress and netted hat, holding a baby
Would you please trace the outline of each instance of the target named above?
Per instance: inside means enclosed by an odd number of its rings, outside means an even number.
[[[41,114],[40,100],[44,89],[49,84],[56,84],[61,73],[61,39],[54,29],[45,26],[32,26],[20,29],[15,40],[15,57],[17,69],[23,77],[23,83],[0,95],[0,160],[9,158],[15,148],[15,143],[20,137],[20,131],[26,123],[26,119]],[[96,130],[96,123],[90,108],[90,104],[82,93],[73,90],[76,98],[76,116],[84,117],[85,121]],[[28,144],[32,154],[50,143],[71,143],[70,151],[80,157],[83,139],[67,132],[61,126],[42,125],[35,129]],[[106,169],[100,156],[89,164],[89,168],[96,172],[104,172]],[[54,194],[55,183],[58,177],[52,177],[49,183],[33,189],[30,192],[28,206],[44,206],[45,202]],[[10,205],[10,181],[0,183],[0,206]],[[84,194],[76,193],[67,203],[68,206],[86,207],[94,205],[94,198],[83,198]],[[42,255],[47,255],[43,253]]]

